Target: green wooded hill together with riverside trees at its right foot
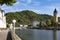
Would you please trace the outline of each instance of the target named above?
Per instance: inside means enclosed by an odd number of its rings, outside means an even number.
[[[39,27],[48,27],[53,26],[54,24],[53,16],[47,14],[38,14],[29,10],[23,10],[20,12],[9,12],[6,13],[5,16],[7,19],[7,25],[12,23],[13,19],[16,19],[16,27],[18,27],[20,24],[27,24],[31,26],[34,20],[40,21],[40,24],[37,25]]]

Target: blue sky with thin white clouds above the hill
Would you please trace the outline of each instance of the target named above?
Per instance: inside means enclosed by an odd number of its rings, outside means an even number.
[[[56,8],[60,17],[60,0],[17,0],[13,6],[0,6],[5,12],[31,10],[38,14],[53,15]]]

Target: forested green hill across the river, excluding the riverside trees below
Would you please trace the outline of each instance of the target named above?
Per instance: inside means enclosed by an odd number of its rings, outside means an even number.
[[[16,26],[19,26],[20,24],[32,24],[34,20],[37,21],[45,21],[47,19],[51,19],[52,16],[46,15],[46,14],[37,14],[33,11],[24,10],[20,12],[9,12],[5,14],[7,18],[7,23],[12,23],[13,19],[17,20]]]

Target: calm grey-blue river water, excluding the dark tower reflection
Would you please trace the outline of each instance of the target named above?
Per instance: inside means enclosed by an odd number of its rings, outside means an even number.
[[[16,34],[23,40],[53,40],[53,30],[16,29]],[[60,31],[56,31],[56,38],[60,40]]]

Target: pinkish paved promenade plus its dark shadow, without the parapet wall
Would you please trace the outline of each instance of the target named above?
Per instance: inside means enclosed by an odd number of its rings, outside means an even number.
[[[0,30],[0,40],[12,40],[11,32],[9,30]]]

